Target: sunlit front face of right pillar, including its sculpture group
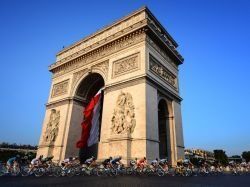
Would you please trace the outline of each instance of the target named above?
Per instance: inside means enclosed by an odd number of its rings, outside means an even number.
[[[145,83],[126,86],[104,91],[99,160],[122,156],[126,164],[135,157],[147,156]]]

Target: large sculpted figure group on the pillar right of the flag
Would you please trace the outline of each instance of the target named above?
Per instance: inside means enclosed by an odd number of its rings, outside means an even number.
[[[111,120],[113,134],[133,133],[136,125],[134,108],[131,94],[121,92]]]

